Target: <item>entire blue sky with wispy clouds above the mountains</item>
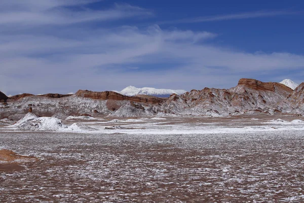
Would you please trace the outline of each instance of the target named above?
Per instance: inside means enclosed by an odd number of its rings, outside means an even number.
[[[304,82],[302,1],[3,0],[0,91]]]

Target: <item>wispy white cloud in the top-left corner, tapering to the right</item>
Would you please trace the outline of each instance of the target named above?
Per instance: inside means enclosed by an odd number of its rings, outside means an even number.
[[[86,5],[97,1],[37,1],[25,0],[21,5],[5,1],[0,10],[0,24],[14,25],[62,25],[92,21],[109,21],[134,16],[151,15],[152,13],[128,4],[115,4],[113,8],[92,10]],[[83,5],[78,10],[71,6]]]

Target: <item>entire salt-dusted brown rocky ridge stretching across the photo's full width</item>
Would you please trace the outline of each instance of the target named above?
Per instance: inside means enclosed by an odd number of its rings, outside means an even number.
[[[169,98],[125,96],[113,91],[79,90],[73,95],[21,94],[0,103],[1,117],[20,118],[32,107],[39,116],[149,117],[155,115],[221,117],[246,113],[304,115],[304,83],[294,91],[284,84],[240,79],[230,89],[204,88]]]

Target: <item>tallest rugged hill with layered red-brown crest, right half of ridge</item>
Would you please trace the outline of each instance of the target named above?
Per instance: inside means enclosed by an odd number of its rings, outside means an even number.
[[[173,94],[163,109],[174,114],[227,116],[248,111],[274,113],[292,89],[280,83],[241,79],[231,89],[204,88]]]

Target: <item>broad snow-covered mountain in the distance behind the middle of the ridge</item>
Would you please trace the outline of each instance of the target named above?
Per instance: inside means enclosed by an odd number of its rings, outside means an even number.
[[[135,96],[137,94],[158,96],[158,97],[169,97],[171,94],[183,94],[186,91],[182,89],[173,90],[173,89],[156,89],[152,87],[143,87],[137,88],[134,86],[129,86],[123,89],[122,91],[115,91],[126,96]]]

